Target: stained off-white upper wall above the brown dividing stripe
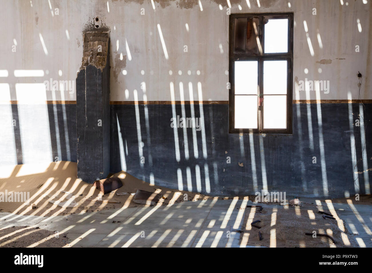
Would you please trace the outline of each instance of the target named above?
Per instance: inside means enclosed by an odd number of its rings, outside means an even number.
[[[82,31],[96,16],[111,32],[112,101],[173,100],[170,82],[174,84],[174,100],[180,100],[180,82],[185,100],[189,100],[191,82],[194,100],[227,101],[227,3],[231,3],[231,13],[294,12],[294,82],[304,81],[305,78],[329,81],[329,93],[320,92],[322,100],[357,99],[359,81],[356,74],[360,71],[363,75],[360,98],[372,99],[372,1],[346,1],[290,0],[289,7],[288,1],[284,0],[201,0],[201,10],[198,0],[155,0],[155,9],[151,0],[50,0],[52,11],[55,13],[57,8],[59,13],[52,16],[47,0],[0,0],[3,19],[0,51],[0,76],[3,77],[0,77],[0,83],[5,84],[0,84],[4,87],[0,90],[0,101],[76,100],[75,92],[70,94],[66,90],[61,96],[60,91],[45,91],[42,85],[33,88],[33,85],[19,83],[43,83],[52,78],[53,81],[71,81],[75,85],[72,81],[76,80],[83,54]],[[222,4],[222,10],[219,4]],[[141,15],[142,8],[144,15]],[[312,14],[313,8],[316,8],[316,15]],[[314,56],[311,56],[308,46],[304,21]],[[158,25],[163,33],[168,59],[164,55]],[[12,52],[15,43],[16,52]],[[184,52],[185,45],[187,52]],[[356,45],[359,45],[360,52],[355,52]],[[121,54],[123,60],[120,59]],[[15,77],[15,69],[41,69],[44,76]],[[126,75],[123,75],[123,70],[127,71]],[[141,82],[145,82],[145,93]],[[201,82],[202,92],[198,92],[198,82]],[[29,91],[27,88],[30,88]],[[134,90],[137,90],[137,98]],[[349,92],[351,97],[348,97]],[[308,95],[305,93],[294,90],[294,99],[316,99],[315,91],[308,92]],[[201,94],[202,98],[199,97]]]

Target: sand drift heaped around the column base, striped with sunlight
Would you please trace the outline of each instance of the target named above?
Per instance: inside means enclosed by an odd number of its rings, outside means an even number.
[[[0,191],[2,192],[29,192],[29,205],[24,202],[0,202],[0,212],[11,212],[21,215],[56,216],[70,215],[80,212],[100,211],[112,208],[129,208],[141,204],[134,203],[134,195],[137,189],[160,193],[163,204],[173,204],[186,200],[198,200],[205,195],[177,191],[174,189],[158,187],[144,182],[122,171],[110,177],[119,177],[123,186],[115,191],[102,196],[103,201],[119,201],[120,203],[102,203],[97,201],[100,192],[90,183],[77,178],[77,163],[60,161],[47,164],[16,165],[11,170],[9,167],[0,168]],[[116,193],[127,192],[126,195]],[[73,197],[71,198],[71,195]],[[68,199],[67,199],[68,198]],[[73,208],[63,208],[49,201],[72,201],[78,205]],[[36,205],[32,209],[30,206]],[[142,205],[141,205],[142,206]]]

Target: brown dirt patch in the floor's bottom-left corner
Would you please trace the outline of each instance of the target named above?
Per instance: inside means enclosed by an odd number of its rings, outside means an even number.
[[[9,227],[0,229],[0,247],[63,247],[68,237],[35,227]]]

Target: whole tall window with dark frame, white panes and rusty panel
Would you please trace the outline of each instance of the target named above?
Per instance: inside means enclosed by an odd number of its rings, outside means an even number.
[[[292,133],[293,13],[231,14],[230,133]]]

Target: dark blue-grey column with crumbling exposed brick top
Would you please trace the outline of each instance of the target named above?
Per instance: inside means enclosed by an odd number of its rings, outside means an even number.
[[[84,33],[83,63],[76,78],[77,177],[93,183],[109,174],[110,40]]]

